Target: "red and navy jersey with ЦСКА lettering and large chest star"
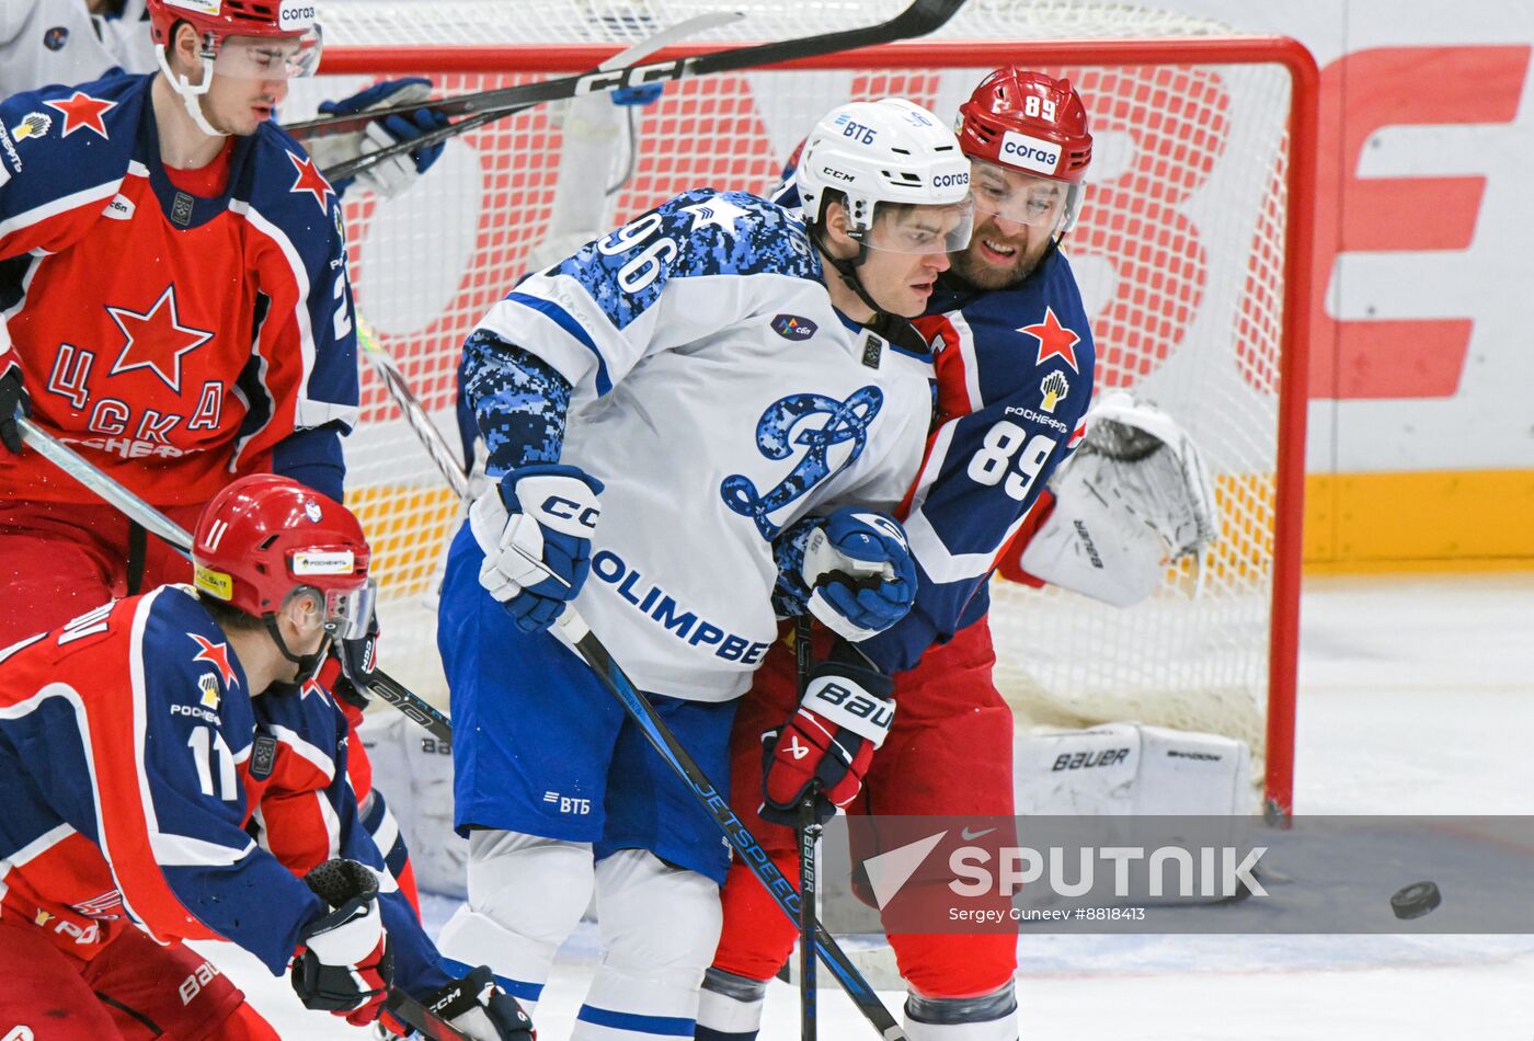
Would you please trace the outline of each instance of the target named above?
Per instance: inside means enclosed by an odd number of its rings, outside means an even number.
[[[276,471],[341,497],[357,371],[341,205],[267,123],[215,196],[160,159],[152,77],[0,103],[0,314],[32,417],[155,504]],[[91,501],[35,452],[20,495]]]

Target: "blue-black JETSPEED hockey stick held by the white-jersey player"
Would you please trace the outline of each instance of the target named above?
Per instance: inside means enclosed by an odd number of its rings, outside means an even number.
[[[426,454],[431,460],[437,463],[442,469],[443,477],[448,483],[454,483],[453,474],[462,475],[462,471],[453,460],[453,449],[446,445],[439,431],[431,420],[426,417],[426,411],[420,406],[420,402],[411,392],[410,385],[403,379],[385,383],[388,392],[394,397],[394,403],[399,405],[400,411],[405,414],[407,422],[416,437],[428,445]],[[434,445],[436,443],[436,445]],[[681,777],[687,786],[698,796],[704,809],[715,819],[719,828],[724,831],[724,837],[729,840],[730,846],[739,852],[741,860],[752,869],[758,882],[772,894],[773,900],[788,915],[790,921],[799,921],[799,909],[802,903],[799,901],[799,894],[795,891],[793,883],[784,878],[782,871],[778,865],[772,862],[767,852],[761,848],[761,843],[752,837],[741,819],[735,816],[730,809],[729,796],[719,793],[718,788],[709,780],[698,767],[696,760],[687,753],[686,748],[676,741],[670,728],[655,714],[655,708],[649,701],[638,691],[638,688],[629,681],[623,670],[612,661],[612,655],[603,647],[601,641],[597,639],[595,633],[586,621],[577,613],[574,607],[566,607],[565,613],[560,615],[558,627],[565,632],[565,636],[575,645],[575,650],[586,664],[591,665],[597,678],[601,679],[603,685],[617,698],[629,716],[640,725],[644,736],[649,739],[655,750],[661,753],[672,771]],[[811,905],[813,914],[813,905]],[[813,918],[811,918],[813,921]],[[816,952],[825,967],[831,970],[842,989],[853,1000],[858,1009],[864,1013],[868,1023],[879,1032],[885,1041],[904,1041],[905,1032],[900,1030],[900,1024],[894,1021],[890,1010],[884,1007],[879,1001],[879,995],[874,993],[873,987],[853,964],[851,958],[841,949],[841,944],[831,938],[819,921],[815,921],[815,938]]]

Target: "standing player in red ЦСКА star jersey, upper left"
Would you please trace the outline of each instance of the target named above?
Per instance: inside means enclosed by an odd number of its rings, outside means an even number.
[[[80,0],[38,2],[83,12]],[[236,474],[342,494],[357,382],[341,207],[270,118],[288,78],[319,60],[313,8],[132,0],[123,15],[100,44],[75,32],[55,64],[78,52],[64,67],[118,58],[160,74],[0,104],[0,581],[15,592],[0,604],[0,645],[189,578],[176,553],[21,449],[18,405],[183,526]],[[11,72],[46,72],[34,66]],[[344,708],[360,721],[360,698]],[[414,903],[399,828],[356,747],[364,820]]]

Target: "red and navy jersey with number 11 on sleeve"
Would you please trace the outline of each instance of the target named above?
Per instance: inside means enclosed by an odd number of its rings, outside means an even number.
[[[250,696],[181,586],[115,601],[0,652],[0,915],[89,960],[135,924],[224,938],[281,972],[327,908],[299,875],[380,874],[399,980],[451,978],[357,825],[347,722],[319,687]]]

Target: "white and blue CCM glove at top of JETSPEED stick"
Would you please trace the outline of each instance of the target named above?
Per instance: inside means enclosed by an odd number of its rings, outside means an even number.
[[[474,500],[480,586],[523,632],[548,629],[591,573],[601,481],[578,466],[522,466]]]

